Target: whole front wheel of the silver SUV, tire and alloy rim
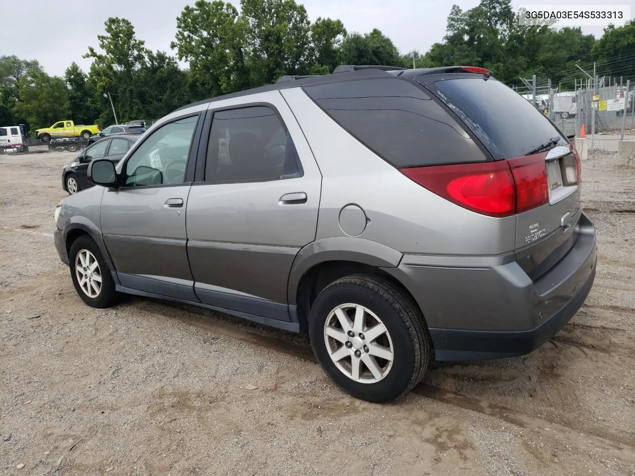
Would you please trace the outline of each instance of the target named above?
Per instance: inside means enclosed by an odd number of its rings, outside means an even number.
[[[90,236],[82,235],[73,242],[70,247],[69,262],[70,277],[77,294],[84,303],[90,307],[106,308],[119,302],[121,294],[115,290],[110,269],[97,243]],[[96,267],[95,263],[97,263]],[[93,269],[89,272],[91,268]],[[83,281],[79,281],[78,274],[82,275]],[[101,284],[97,277],[101,279]]]

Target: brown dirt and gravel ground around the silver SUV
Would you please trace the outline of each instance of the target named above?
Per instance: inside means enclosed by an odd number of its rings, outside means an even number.
[[[385,405],[335,388],[305,336],[86,307],[53,246],[71,157],[0,155],[1,474],[635,475],[635,170],[615,154],[583,163],[599,263],[572,322]]]

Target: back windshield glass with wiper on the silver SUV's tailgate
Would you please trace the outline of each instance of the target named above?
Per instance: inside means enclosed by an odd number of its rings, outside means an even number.
[[[443,79],[434,93],[460,117],[496,159],[523,157],[551,138],[568,141],[531,103],[495,79]]]

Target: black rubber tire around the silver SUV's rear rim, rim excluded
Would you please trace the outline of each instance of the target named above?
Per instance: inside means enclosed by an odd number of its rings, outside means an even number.
[[[345,303],[361,305],[373,312],[390,335],[394,352],[392,367],[374,383],[352,380],[336,366],[330,357],[331,351],[326,347],[326,319],[335,308]],[[326,286],[311,308],[309,336],[326,374],[344,392],[369,402],[387,402],[410,392],[422,380],[432,358],[431,340],[417,304],[398,286],[375,275],[351,275]],[[354,351],[354,348],[349,348]],[[352,360],[353,356],[350,358]]]

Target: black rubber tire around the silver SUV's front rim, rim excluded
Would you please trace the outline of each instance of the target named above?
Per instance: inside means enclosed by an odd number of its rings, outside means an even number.
[[[81,260],[77,260],[77,255],[82,251],[88,251],[97,260],[98,272],[102,279],[101,288],[97,296],[90,297],[81,288],[79,279],[77,278],[76,262],[81,265]],[[121,299],[121,293],[115,290],[115,282],[112,280],[110,274],[110,268],[102,256],[102,252],[99,250],[97,243],[88,235],[82,235],[77,238],[70,247],[69,253],[70,262],[70,277],[75,286],[75,290],[81,300],[88,304],[90,307],[106,308],[115,305]]]

